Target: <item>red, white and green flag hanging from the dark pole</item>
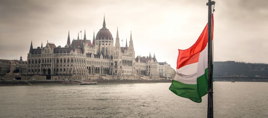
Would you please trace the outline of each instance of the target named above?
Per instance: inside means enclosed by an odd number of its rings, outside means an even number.
[[[213,14],[211,19],[211,38],[213,39]],[[178,96],[198,103],[202,102],[201,97],[207,94],[208,24],[194,45],[186,50],[179,50],[177,73],[169,90]]]

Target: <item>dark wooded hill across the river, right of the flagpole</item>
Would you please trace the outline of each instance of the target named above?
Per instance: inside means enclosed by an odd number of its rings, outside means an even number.
[[[261,76],[268,77],[268,64],[245,63],[235,61],[213,62],[214,77],[245,75],[248,77]]]

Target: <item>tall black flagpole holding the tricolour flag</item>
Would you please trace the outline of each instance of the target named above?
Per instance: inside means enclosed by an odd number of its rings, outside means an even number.
[[[212,44],[211,44],[211,5],[214,5],[215,1],[208,0],[208,118],[213,118],[213,89],[212,85]]]

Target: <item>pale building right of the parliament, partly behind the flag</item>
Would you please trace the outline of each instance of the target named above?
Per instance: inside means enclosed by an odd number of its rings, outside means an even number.
[[[176,71],[170,67],[170,64],[167,62],[158,62],[158,64],[158,73],[160,77],[173,78]]]

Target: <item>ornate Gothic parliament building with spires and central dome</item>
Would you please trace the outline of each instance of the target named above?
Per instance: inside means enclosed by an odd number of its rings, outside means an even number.
[[[112,76],[149,76],[159,78],[157,60],[154,57],[135,58],[132,34],[130,32],[129,45],[120,46],[119,33],[114,39],[106,28],[105,18],[103,27],[93,40],[84,39],[70,41],[68,34],[65,47],[47,42],[43,47],[30,46],[28,53],[29,75],[112,75]]]

